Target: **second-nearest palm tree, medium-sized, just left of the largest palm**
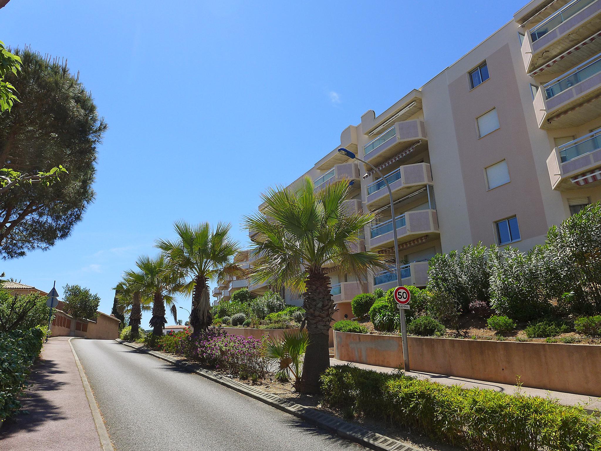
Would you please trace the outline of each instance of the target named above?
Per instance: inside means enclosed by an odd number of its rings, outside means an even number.
[[[192,295],[190,324],[194,334],[207,330],[213,321],[210,311],[209,281],[222,280],[228,275],[242,275],[243,270],[233,263],[240,250],[230,239],[230,224],[219,222],[211,229],[209,222],[191,225],[175,222],[177,241],[157,240],[156,247],[163,251],[169,266],[180,277],[180,291]]]

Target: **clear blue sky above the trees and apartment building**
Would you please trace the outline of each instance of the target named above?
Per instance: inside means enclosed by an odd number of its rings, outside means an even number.
[[[96,201],[71,236],[1,271],[44,290],[89,287],[110,313],[111,287],[175,220],[231,222],[245,244],[240,219],[260,192],[292,182],[365,111],[421,87],[525,3],[11,0],[0,40],[67,58],[109,130]]]

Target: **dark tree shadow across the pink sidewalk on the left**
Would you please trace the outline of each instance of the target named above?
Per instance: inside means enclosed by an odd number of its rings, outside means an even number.
[[[53,390],[61,388],[65,382],[58,381],[56,375],[64,373],[57,368],[53,360],[40,360],[34,364],[29,376],[29,387],[19,397],[21,410],[5,420],[4,427],[0,430],[0,440],[20,432],[32,432],[38,428],[46,428],[46,423],[63,420],[58,403],[47,396]]]

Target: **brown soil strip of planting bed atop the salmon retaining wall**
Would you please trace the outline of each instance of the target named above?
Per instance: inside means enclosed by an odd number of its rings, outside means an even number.
[[[400,332],[380,332],[374,329],[371,321],[360,321],[367,327],[370,334],[374,335],[395,335],[400,336]],[[507,342],[532,342],[532,343],[576,343],[579,345],[601,345],[601,339],[594,339],[576,332],[567,332],[550,337],[548,339],[530,339],[526,336],[527,322],[517,323],[517,328],[508,334],[498,334],[486,326],[486,319],[469,315],[462,316],[459,319],[459,331],[447,329],[444,338],[474,339],[474,340],[503,340]]]

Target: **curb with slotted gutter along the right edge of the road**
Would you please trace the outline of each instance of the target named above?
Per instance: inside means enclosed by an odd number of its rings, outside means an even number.
[[[376,432],[362,428],[361,426],[353,425],[352,423],[341,420],[340,418],[330,414],[287,401],[279,396],[276,396],[275,394],[266,393],[263,390],[243,384],[242,382],[228,378],[227,376],[223,376],[205,369],[195,369],[194,365],[191,363],[179,361],[167,355],[160,354],[159,352],[150,351],[148,349],[132,345],[131,343],[124,342],[120,339],[115,339],[115,341],[121,343],[121,345],[135,349],[136,351],[144,352],[144,354],[150,354],[153,357],[160,358],[160,360],[164,360],[175,366],[188,369],[189,371],[197,373],[198,375],[210,379],[213,382],[217,382],[218,384],[224,385],[232,390],[236,390],[239,393],[246,394],[254,399],[269,404],[278,410],[291,414],[307,423],[310,423],[311,425],[317,426],[317,428],[324,429],[332,434],[337,434],[339,437],[354,441],[355,443],[359,443],[370,449],[387,451],[422,451],[401,441],[394,440],[393,438],[386,437],[385,435],[377,434]]]

